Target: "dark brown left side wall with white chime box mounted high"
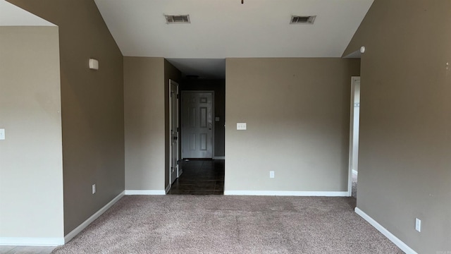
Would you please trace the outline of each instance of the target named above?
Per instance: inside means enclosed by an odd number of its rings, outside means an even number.
[[[123,56],[94,1],[10,2],[59,28],[68,234],[124,190]],[[89,58],[99,71],[89,70]]]

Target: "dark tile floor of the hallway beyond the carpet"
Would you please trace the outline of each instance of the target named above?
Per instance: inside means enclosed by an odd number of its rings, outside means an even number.
[[[183,174],[175,180],[171,195],[223,195],[224,160],[190,159],[180,162]]]

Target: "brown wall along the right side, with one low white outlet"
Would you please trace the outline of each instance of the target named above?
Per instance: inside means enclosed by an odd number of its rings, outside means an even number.
[[[376,0],[344,54],[366,47],[357,207],[417,253],[451,250],[450,31],[450,0]]]

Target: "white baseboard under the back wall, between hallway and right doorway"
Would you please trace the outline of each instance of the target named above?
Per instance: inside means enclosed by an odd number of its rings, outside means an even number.
[[[224,195],[278,195],[308,197],[347,197],[347,191],[224,191]]]

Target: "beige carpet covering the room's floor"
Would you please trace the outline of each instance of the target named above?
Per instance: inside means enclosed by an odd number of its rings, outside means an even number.
[[[402,253],[354,198],[125,196],[52,253]]]

